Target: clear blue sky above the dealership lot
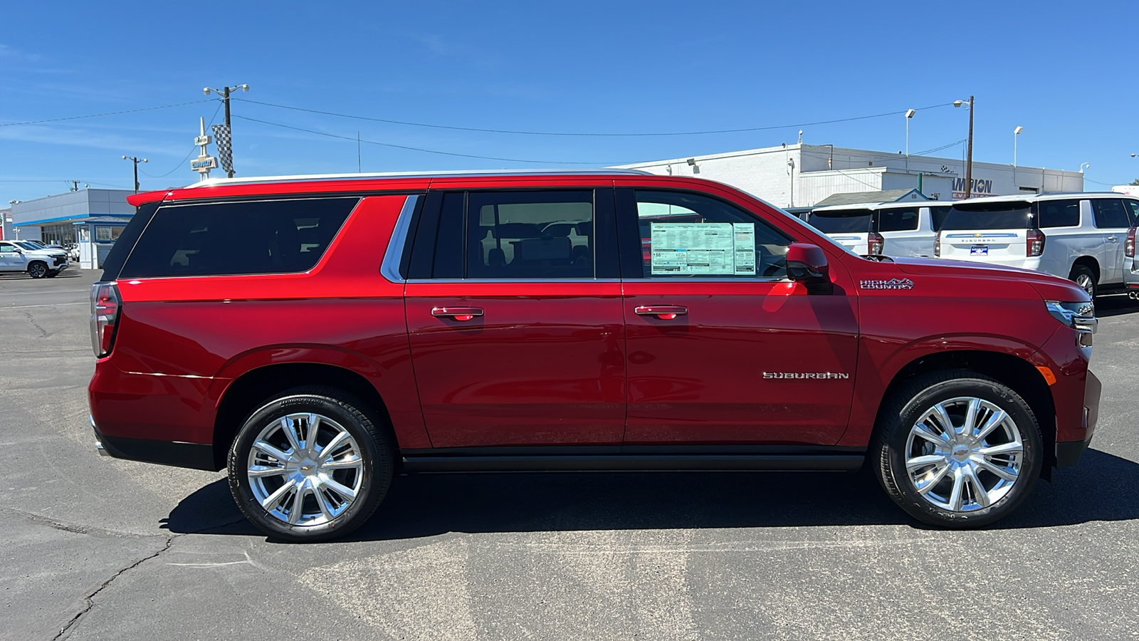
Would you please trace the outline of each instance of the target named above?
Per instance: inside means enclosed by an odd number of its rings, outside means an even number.
[[[1139,176],[1139,2],[8,2],[0,33],[0,202],[67,188],[196,179],[206,86],[239,98],[478,129],[675,132],[563,137],[437,129],[235,100],[239,176],[565,167],[793,143],[798,123],[976,95],[974,159],[1077,170],[1087,188]],[[200,102],[198,102],[200,100]],[[101,117],[7,124],[182,106]],[[243,120],[237,116],[264,122]],[[276,123],[265,124],[265,122]],[[964,139],[967,113],[919,111],[910,152]],[[894,114],[803,127],[804,141],[906,144]],[[212,149],[212,148],[211,148]],[[196,154],[195,154],[196,155]],[[960,157],[960,146],[939,155]],[[148,176],[149,175],[149,176]],[[215,173],[214,176],[218,176]]]

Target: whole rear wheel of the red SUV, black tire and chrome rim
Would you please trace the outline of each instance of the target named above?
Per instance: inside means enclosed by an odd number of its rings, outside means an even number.
[[[335,388],[289,390],[254,412],[229,453],[229,487],[265,534],[294,542],[347,534],[371,517],[393,476],[380,419]]]

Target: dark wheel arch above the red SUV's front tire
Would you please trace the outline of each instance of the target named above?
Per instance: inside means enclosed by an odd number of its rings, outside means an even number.
[[[1029,404],[1036,421],[1040,423],[1040,436],[1044,445],[1044,461],[1041,476],[1051,478],[1051,469],[1056,463],[1056,406],[1044,375],[1030,362],[1000,351],[985,350],[951,350],[919,356],[910,360],[894,374],[883,395],[875,416],[875,435],[882,425],[883,412],[890,406],[886,401],[902,386],[917,376],[940,370],[969,370],[984,374],[1008,386]]]

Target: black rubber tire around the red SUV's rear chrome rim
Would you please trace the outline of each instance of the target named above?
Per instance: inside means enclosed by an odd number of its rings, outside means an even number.
[[[319,414],[343,428],[354,439],[362,463],[359,471],[353,472],[361,477],[355,496],[341,513],[313,525],[293,525],[270,513],[257,500],[247,473],[251,451],[259,435],[286,416],[303,413]],[[320,439],[316,440],[319,445]],[[394,451],[382,419],[367,403],[337,388],[295,388],[271,398],[245,421],[229,451],[229,488],[241,512],[270,537],[298,543],[326,541],[354,530],[376,511],[392,484]],[[301,469],[304,468],[297,468]],[[281,485],[288,478],[290,477],[281,478]],[[350,482],[354,482],[355,477],[351,478],[353,480]],[[297,513],[303,517],[303,508],[310,505],[306,502],[316,501],[317,497],[311,490],[309,497],[301,494],[302,509]],[[287,493],[285,496],[293,495],[295,493]],[[281,500],[279,503],[284,504],[286,501]]]

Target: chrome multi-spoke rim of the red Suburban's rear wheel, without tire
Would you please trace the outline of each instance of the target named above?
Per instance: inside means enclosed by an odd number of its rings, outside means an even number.
[[[363,481],[360,446],[320,414],[289,414],[261,430],[246,468],[253,495],[273,518],[300,526],[342,514]]]

